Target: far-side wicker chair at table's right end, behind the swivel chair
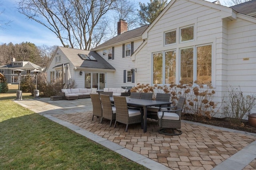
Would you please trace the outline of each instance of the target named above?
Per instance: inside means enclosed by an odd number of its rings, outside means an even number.
[[[158,101],[164,101],[164,102],[169,102],[170,101],[170,93],[157,93],[156,94],[156,100]],[[150,106],[147,108],[147,117],[150,119],[156,119],[157,120],[157,112],[158,111],[165,111],[167,110],[167,106]]]

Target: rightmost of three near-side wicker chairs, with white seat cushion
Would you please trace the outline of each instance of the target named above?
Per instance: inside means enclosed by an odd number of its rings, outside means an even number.
[[[127,106],[126,97],[124,96],[113,96],[116,106],[116,122],[126,124],[125,131],[127,132],[128,125],[134,123],[142,123],[141,113],[137,109],[130,109]]]

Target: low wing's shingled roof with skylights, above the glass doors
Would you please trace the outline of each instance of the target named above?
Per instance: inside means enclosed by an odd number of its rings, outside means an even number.
[[[94,51],[71,49],[66,47],[58,47],[58,48],[64,53],[64,55],[66,55],[66,57],[70,60],[70,62],[75,67],[115,70],[115,68],[111,64],[109,64],[105,59],[103,59],[100,55],[98,55],[98,53]],[[96,61],[84,60],[79,56],[79,54],[91,55],[96,59]]]

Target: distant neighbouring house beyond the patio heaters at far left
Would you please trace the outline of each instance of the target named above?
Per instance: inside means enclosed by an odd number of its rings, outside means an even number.
[[[15,58],[12,58],[11,64],[0,66],[0,73],[4,75],[7,83],[18,84],[18,74],[14,70],[24,70],[21,71],[21,76],[24,77],[27,74],[34,74],[32,70],[43,71],[44,68],[29,61],[15,61]]]

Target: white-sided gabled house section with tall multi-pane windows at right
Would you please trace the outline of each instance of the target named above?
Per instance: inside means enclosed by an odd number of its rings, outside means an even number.
[[[217,102],[228,95],[230,85],[240,86],[244,96],[255,94],[255,15],[256,0],[230,8],[204,0],[170,1],[132,55],[136,82],[210,80]]]

